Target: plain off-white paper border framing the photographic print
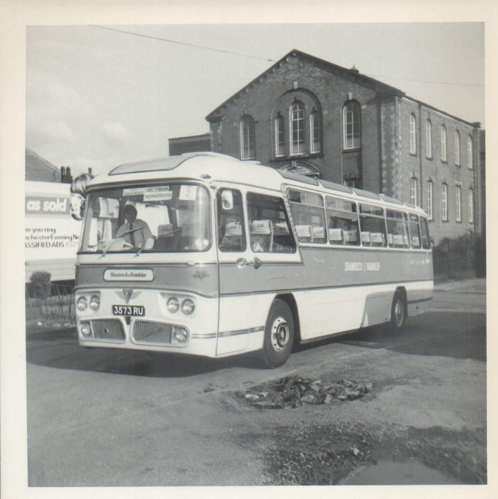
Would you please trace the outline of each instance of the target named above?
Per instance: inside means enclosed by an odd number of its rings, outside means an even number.
[[[486,22],[486,131],[487,185],[495,185],[497,6],[491,0],[346,1],[297,0],[160,1],[160,0],[2,0],[0,4],[0,366],[1,366],[1,496],[10,498],[164,498],[198,497],[198,487],[185,488],[28,488],[26,449],[26,370],[24,307],[24,132],[25,28],[55,24],[168,24],[168,23],[275,23],[275,22]],[[488,193],[488,212],[497,196]],[[494,220],[488,217],[488,223]],[[496,422],[494,401],[497,379],[495,231],[488,232],[488,421]],[[404,487],[210,487],[204,497],[272,498],[303,495],[320,498],[495,497],[497,425],[488,425],[487,486]],[[423,488],[422,488],[423,487]]]

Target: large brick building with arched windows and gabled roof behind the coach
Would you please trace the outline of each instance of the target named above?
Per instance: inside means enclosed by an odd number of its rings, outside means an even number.
[[[292,50],[206,119],[214,152],[423,207],[436,244],[484,231],[480,124],[354,66]],[[171,154],[194,139],[170,139]]]

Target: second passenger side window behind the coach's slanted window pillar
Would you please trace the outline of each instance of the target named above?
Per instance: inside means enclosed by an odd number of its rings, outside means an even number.
[[[326,208],[330,244],[358,246],[360,231],[356,204],[327,196]]]

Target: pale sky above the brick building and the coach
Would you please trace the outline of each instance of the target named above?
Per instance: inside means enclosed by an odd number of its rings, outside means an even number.
[[[167,156],[168,138],[209,132],[212,110],[294,48],[484,128],[484,35],[482,22],[28,26],[26,147],[73,176]]]

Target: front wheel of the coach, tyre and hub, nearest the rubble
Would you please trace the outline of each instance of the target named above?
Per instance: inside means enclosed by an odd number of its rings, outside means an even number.
[[[263,348],[259,359],[265,367],[275,369],[287,361],[294,342],[294,318],[285,301],[271,304],[264,328]]]

